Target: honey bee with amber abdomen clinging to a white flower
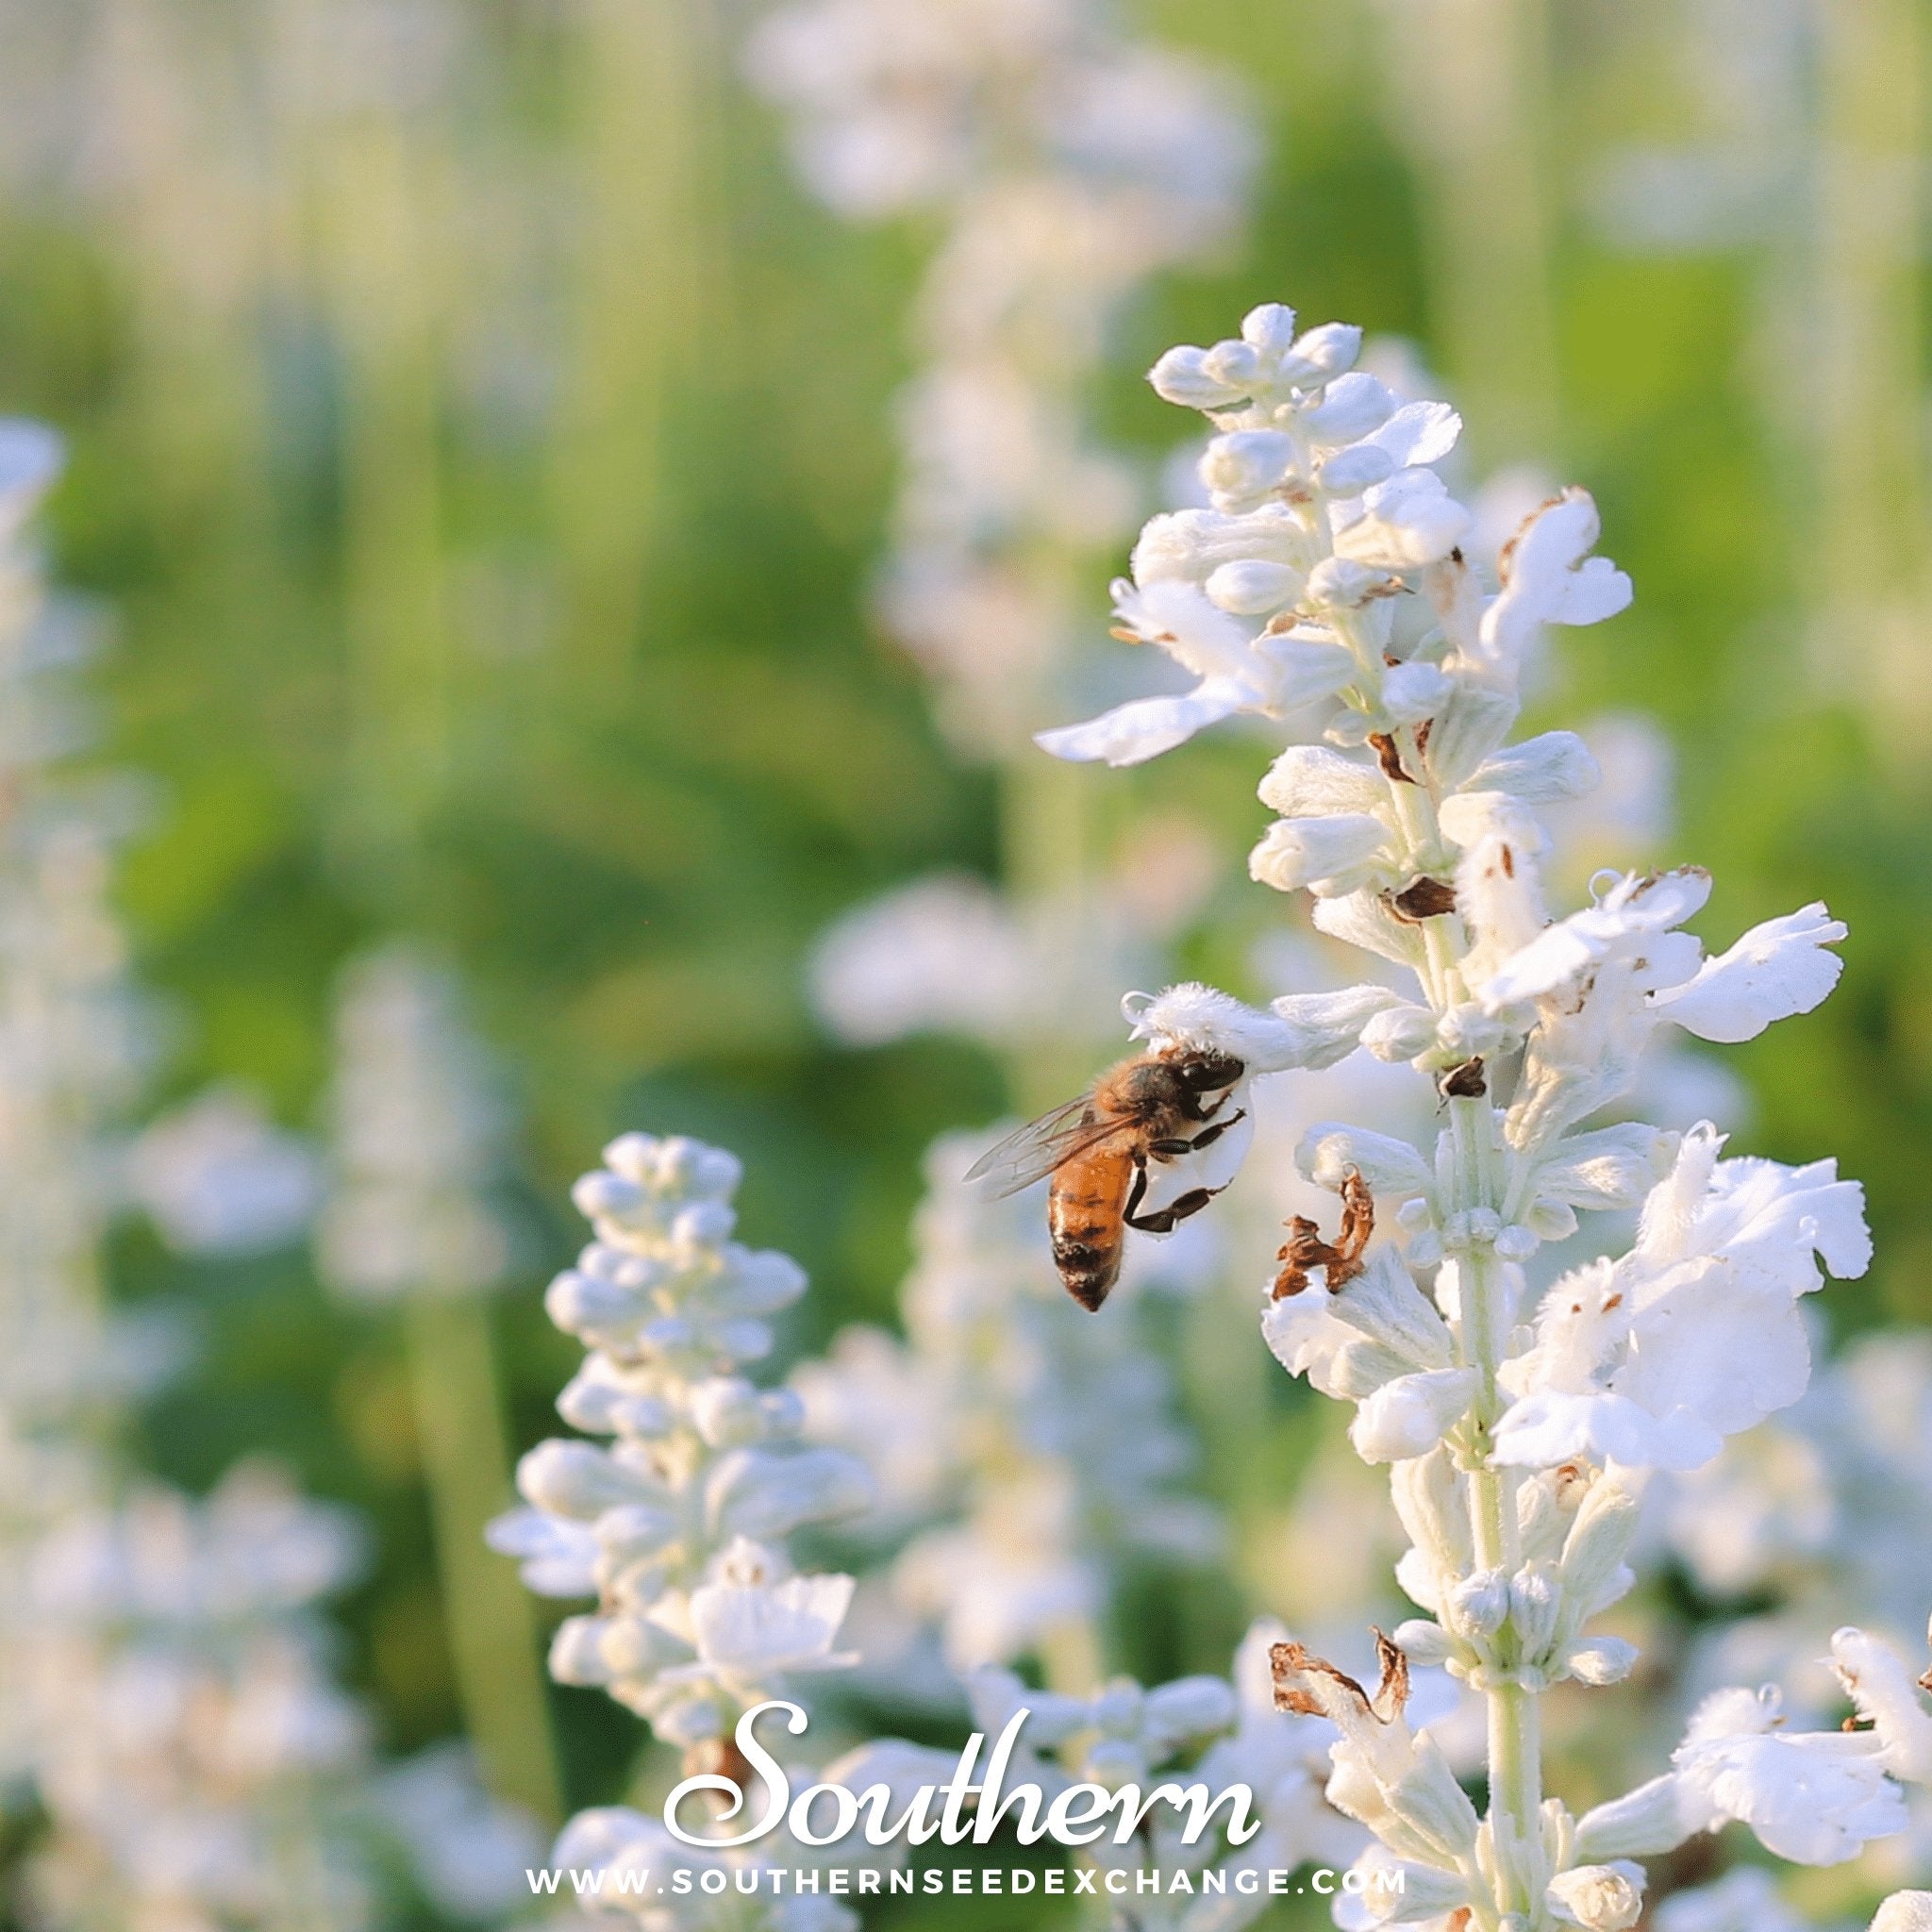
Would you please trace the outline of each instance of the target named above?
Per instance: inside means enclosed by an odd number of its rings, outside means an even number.
[[[1078,1099],[1009,1134],[966,1179],[991,1180],[993,1198],[1001,1200],[1051,1175],[1053,1265],[1082,1308],[1099,1308],[1121,1277],[1126,1229],[1167,1235],[1221,1192],[1190,1188],[1169,1208],[1140,1211],[1150,1161],[1198,1153],[1246,1117],[1238,1107],[1221,1111],[1246,1070],[1233,1053],[1202,1047],[1136,1053]],[[1209,1101],[1209,1095],[1219,1097]]]

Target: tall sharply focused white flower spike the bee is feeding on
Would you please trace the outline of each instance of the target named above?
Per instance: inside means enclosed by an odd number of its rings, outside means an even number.
[[[1478,574],[1472,520],[1432,468],[1453,412],[1399,402],[1354,367],[1358,346],[1264,305],[1238,336],[1155,363],[1155,390],[1215,429],[1211,508],[1155,518],[1115,603],[1122,632],[1194,684],[1041,744],[1134,763],[1236,711],[1285,726],[1250,871],[1399,970],[1399,989],[1323,995],[1323,1016],[1347,1012],[1341,1053],[1360,1041],[1412,1066],[1437,1111],[1412,1140],[1327,1121],[1296,1150],[1337,1202],[1289,1221],[1264,1335],[1291,1374],[1356,1405],[1350,1443],[1391,1464],[1412,1542],[1397,1580],[1428,1615],[1381,1642],[1378,1692],[1281,1644],[1277,1694],[1339,1727],[1329,1799],[1378,1839],[1370,1864],[1428,1874],[1424,1911],[1615,1932],[1642,1913],[1633,1859],[1735,1818],[1783,1857],[1839,1862],[1903,1830],[1899,1781],[1932,1772],[1918,1690],[1847,1629],[1835,1665],[1870,1729],[1801,1731],[1776,1690],[1727,1690],[1627,1797],[1573,1822],[1542,1791],[1536,1698],[1613,1685],[1636,1658],[1592,1625],[1634,1580],[1646,1474],[1698,1470],[1797,1403],[1799,1302],[1872,1252],[1862,1192],[1832,1161],[1721,1159],[1708,1122],[1675,1134],[1602,1111],[1638,1088],[1665,1022],[1750,1039],[1816,1007],[1845,927],[1812,904],[1706,954],[1685,927],[1710,875],[1690,866],[1551,904],[1542,811],[1586,798],[1602,769],[1573,732],[1511,742],[1519,680],[1544,626],[1613,618],[1631,582],[1596,554],[1578,489],[1522,522],[1493,582]],[[1273,1014],[1316,1016],[1310,995]],[[1244,1078],[1327,1065],[1265,1020],[1182,987],[1148,1005],[1142,1036],[1211,1043]],[[1167,1159],[1202,1206],[1194,1155]],[[1634,1242],[1549,1279],[1538,1250],[1586,1211],[1636,1211]],[[1482,1820],[1406,1723],[1405,1658],[1488,1702]]]

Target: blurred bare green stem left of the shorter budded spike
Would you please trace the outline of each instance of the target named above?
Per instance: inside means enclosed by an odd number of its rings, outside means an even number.
[[[562,1791],[535,1615],[516,1569],[483,1542],[512,1495],[489,1308],[473,1294],[413,1294],[408,1345],[464,1721],[491,1789],[556,1824]]]

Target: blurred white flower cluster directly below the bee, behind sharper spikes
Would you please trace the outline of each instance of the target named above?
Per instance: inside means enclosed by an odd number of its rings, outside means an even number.
[[[792,1376],[808,1434],[869,1464],[877,1530],[902,1540],[895,1594],[958,1667],[1095,1617],[1124,1553],[1198,1561],[1217,1542],[1179,1488],[1190,1445],[1159,1360],[1068,1300],[1037,1192],[987,1202],[960,1180],[980,1146],[927,1155],[904,1341],[846,1329]]]

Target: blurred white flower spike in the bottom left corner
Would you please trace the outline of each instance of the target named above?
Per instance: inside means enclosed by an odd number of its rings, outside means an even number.
[[[29,1868],[44,1913],[363,1924],[365,1727],[313,1621],[359,1548],[340,1511],[247,1468],[205,1503],[149,1488],[43,1542],[21,1642],[50,1818]]]

